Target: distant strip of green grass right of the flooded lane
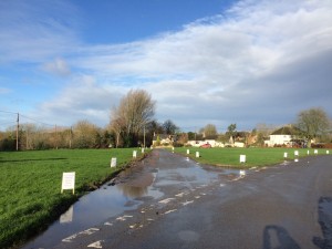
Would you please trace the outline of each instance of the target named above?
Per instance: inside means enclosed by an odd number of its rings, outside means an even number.
[[[187,149],[190,154],[187,155]],[[268,166],[281,163],[284,160],[283,153],[288,153],[288,160],[295,158],[294,151],[299,151],[299,157],[308,156],[307,148],[195,148],[179,147],[175,148],[175,153],[201,163],[216,166],[230,167],[252,167]],[[196,157],[196,152],[199,152],[199,157]],[[310,155],[314,155],[314,149],[309,149]],[[318,155],[325,155],[326,149],[318,149]],[[246,155],[246,163],[240,163],[240,155]]]

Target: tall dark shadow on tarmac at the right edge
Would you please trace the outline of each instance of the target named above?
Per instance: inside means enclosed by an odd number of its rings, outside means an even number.
[[[312,242],[320,249],[332,249],[332,198],[321,197],[318,207],[323,239],[313,237]]]

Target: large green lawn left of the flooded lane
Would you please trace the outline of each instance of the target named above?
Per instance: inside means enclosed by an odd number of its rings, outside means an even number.
[[[128,164],[133,151],[0,152],[0,248],[17,246],[45,229],[87,189]],[[117,158],[116,168],[110,167],[112,157]],[[61,194],[63,172],[76,173],[75,195]]]

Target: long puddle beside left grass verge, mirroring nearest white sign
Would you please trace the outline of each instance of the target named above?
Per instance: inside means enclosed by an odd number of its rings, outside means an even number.
[[[139,172],[139,170],[138,170]],[[144,198],[160,198],[164,194],[152,186],[156,173],[144,174],[125,170],[123,176],[136,178],[131,181],[103,185],[100,189],[80,198],[77,203],[70,207],[58,221],[49,227],[46,231],[27,243],[23,249],[52,248],[63,238],[66,238],[83,229],[100,225],[107,218],[116,217],[126,210],[134,210]],[[142,180],[139,180],[142,178]]]

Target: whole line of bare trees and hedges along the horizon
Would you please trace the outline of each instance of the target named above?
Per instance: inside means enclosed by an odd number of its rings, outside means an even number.
[[[176,144],[188,141],[218,139],[235,141],[241,137],[249,144],[256,136],[255,145],[263,146],[263,139],[273,132],[274,126],[257,125],[251,132],[238,132],[236,124],[230,124],[225,134],[218,134],[214,124],[207,124],[198,132],[184,133],[170,120],[158,123],[154,118],[156,102],[144,90],[131,90],[117,106],[111,110],[110,124],[97,127],[89,121],[79,121],[72,127],[43,127],[35,124],[21,124],[19,131],[9,127],[0,132],[0,151],[49,148],[107,148],[107,147],[148,147],[156,134],[177,135]],[[294,124],[308,141],[331,143],[331,121],[322,108],[310,108],[298,114]],[[19,137],[19,141],[17,141]]]

